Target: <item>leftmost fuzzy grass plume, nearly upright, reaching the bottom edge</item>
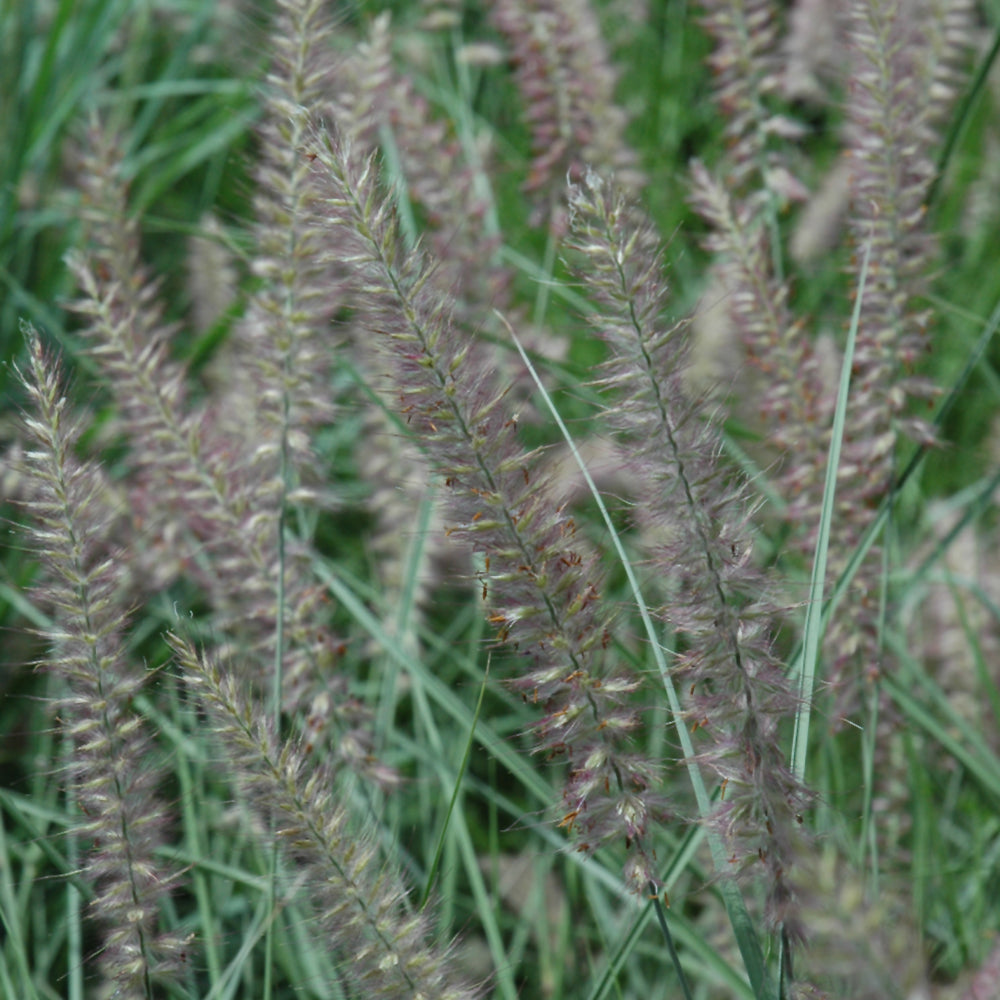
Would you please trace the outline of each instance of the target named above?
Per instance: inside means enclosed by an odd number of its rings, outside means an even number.
[[[182,942],[161,933],[159,911],[173,880],[157,857],[168,814],[157,790],[157,753],[134,700],[146,676],[122,643],[122,562],[109,548],[105,484],[74,457],[79,437],[57,365],[27,328],[29,369],[18,372],[31,410],[26,473],[30,537],[45,563],[39,597],[52,608],[46,663],[65,693],[55,706],[74,753],[67,780],[91,842],[84,874],[103,930],[101,968],[116,996],[152,1000],[154,982],[178,973]]]

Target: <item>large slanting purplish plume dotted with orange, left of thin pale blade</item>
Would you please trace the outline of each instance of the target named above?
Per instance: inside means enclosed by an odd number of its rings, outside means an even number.
[[[359,166],[329,134],[314,155],[329,185],[330,222],[364,276],[369,322],[393,368],[393,403],[444,479],[449,531],[483,556],[489,620],[525,661],[512,684],[543,706],[538,749],[568,761],[560,825],[583,851],[624,844],[628,884],[646,892],[656,881],[650,827],[665,804],[653,790],[657,768],[630,746],[640,682],[603,655],[611,623],[596,560],[575,542],[538,454],[521,447],[503,392],[468,364],[431,264],[402,247],[374,159]]]

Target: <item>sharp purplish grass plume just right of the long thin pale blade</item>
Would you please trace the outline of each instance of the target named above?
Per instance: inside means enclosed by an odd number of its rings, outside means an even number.
[[[660,617],[680,637],[675,672],[688,690],[697,759],[720,781],[712,822],[734,871],[763,867],[768,916],[794,926],[790,870],[808,795],[780,743],[796,709],[771,652],[776,609],[752,561],[753,505],[727,477],[721,438],[685,381],[685,324],[664,325],[662,255],[649,226],[595,174],[570,193],[577,274],[597,303],[589,318],[608,344],[609,416],[630,442],[637,516],[667,581]]]

